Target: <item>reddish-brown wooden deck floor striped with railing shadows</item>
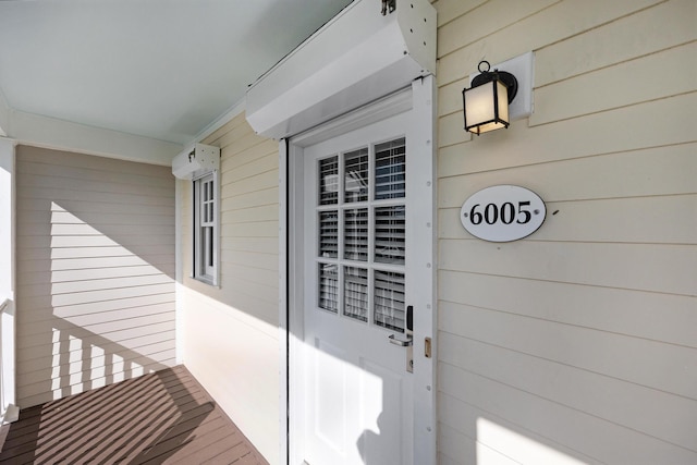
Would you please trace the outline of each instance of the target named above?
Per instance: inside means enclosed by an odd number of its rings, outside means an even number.
[[[23,409],[0,464],[268,465],[184,368]]]

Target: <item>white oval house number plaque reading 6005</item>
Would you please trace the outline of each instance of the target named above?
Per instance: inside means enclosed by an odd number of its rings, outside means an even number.
[[[460,210],[460,220],[475,237],[511,242],[527,237],[545,222],[545,201],[525,187],[498,185],[473,194]]]

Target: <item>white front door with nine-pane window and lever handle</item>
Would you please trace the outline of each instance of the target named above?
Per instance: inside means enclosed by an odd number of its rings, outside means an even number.
[[[419,231],[432,230],[432,208],[418,200],[417,183],[430,191],[431,173],[418,172],[424,151],[413,140],[413,113],[296,151],[302,353],[291,377],[303,418],[302,460],[292,463],[425,463],[415,450],[429,449],[417,442],[430,440],[433,415],[417,418],[424,412],[415,405],[432,389],[432,328],[424,323],[432,321],[432,269]]]

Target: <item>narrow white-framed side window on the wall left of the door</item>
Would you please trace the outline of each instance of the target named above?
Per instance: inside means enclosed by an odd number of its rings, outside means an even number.
[[[218,171],[194,180],[194,278],[218,285]]]

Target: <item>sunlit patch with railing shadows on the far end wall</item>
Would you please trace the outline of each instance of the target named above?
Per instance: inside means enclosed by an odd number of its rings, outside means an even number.
[[[137,242],[137,227],[94,216],[113,234],[51,203],[52,399],[174,363],[174,280],[110,237]]]

